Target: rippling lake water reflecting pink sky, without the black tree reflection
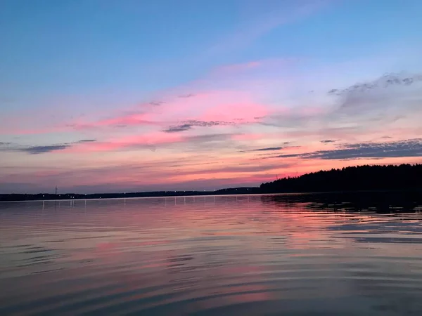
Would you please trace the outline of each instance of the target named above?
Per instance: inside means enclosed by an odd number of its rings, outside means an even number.
[[[422,315],[421,205],[364,205],[3,203],[0,315]]]

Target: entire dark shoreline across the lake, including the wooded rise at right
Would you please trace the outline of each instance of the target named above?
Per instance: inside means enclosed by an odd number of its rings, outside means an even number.
[[[422,190],[422,164],[352,166],[280,178],[260,187],[230,187],[214,191],[154,191],[126,193],[4,194],[0,202],[69,199],[119,199],[131,197],[181,197],[198,195],[252,195],[309,192],[406,192]]]

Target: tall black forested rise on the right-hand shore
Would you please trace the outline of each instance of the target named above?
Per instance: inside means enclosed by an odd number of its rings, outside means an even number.
[[[262,183],[262,193],[409,190],[422,188],[422,164],[351,166]]]

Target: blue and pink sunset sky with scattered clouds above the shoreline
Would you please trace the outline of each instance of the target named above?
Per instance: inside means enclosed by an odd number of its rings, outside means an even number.
[[[0,193],[422,162],[422,1],[1,0]]]

